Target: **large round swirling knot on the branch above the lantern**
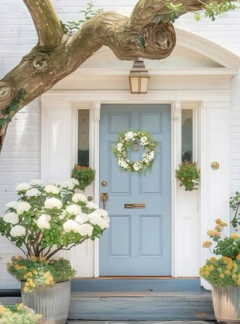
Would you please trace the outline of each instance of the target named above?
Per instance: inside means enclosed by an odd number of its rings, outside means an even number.
[[[176,45],[176,33],[173,24],[152,23],[143,30],[145,55],[151,59],[168,57]]]

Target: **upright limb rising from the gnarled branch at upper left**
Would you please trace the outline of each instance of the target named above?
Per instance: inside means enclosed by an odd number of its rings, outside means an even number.
[[[55,48],[61,44],[64,32],[51,0],[23,0],[36,28],[38,46]]]

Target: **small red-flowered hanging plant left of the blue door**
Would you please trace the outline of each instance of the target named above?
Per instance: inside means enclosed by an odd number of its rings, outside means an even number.
[[[77,189],[85,190],[95,179],[96,172],[92,168],[81,167],[75,164],[72,169],[72,178],[78,180]]]

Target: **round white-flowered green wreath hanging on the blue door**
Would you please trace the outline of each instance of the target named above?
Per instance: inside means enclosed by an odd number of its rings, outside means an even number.
[[[143,150],[146,150],[142,154],[142,159],[138,162],[130,161],[128,159],[129,149],[136,151],[141,146]],[[146,170],[151,171],[157,146],[158,143],[146,131],[134,132],[130,130],[126,133],[119,132],[113,147],[116,164],[121,170],[130,173],[138,172],[140,174]]]

